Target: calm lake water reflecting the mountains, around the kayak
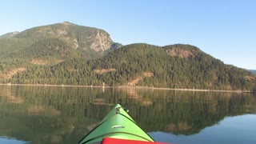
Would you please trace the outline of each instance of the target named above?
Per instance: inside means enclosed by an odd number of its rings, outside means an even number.
[[[77,143],[116,104],[156,141],[256,143],[256,95],[0,86],[0,143]]]

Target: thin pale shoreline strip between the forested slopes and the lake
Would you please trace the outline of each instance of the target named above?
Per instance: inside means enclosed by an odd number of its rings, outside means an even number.
[[[203,89],[175,89],[164,87],[148,87],[148,86],[75,86],[75,85],[49,85],[49,84],[4,84],[0,86],[56,86],[56,87],[91,87],[91,88],[135,88],[135,89],[151,89],[151,90],[178,90],[178,91],[202,91],[202,92],[226,92],[226,93],[256,93],[256,91],[243,91],[243,90],[203,90]]]

